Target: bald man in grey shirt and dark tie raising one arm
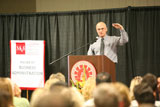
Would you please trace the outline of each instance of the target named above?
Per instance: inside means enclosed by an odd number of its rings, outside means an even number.
[[[118,62],[117,46],[128,42],[128,34],[119,23],[113,23],[112,26],[120,30],[121,36],[107,35],[106,24],[104,22],[97,23],[96,31],[99,37],[96,42],[90,45],[88,55],[105,55],[114,63]]]

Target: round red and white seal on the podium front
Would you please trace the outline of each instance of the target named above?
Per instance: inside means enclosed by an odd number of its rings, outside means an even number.
[[[82,76],[84,73],[86,75],[86,80],[89,77],[96,77],[96,69],[93,64],[85,60],[78,61],[71,69],[71,79],[74,83],[76,83],[76,81],[82,82]]]

